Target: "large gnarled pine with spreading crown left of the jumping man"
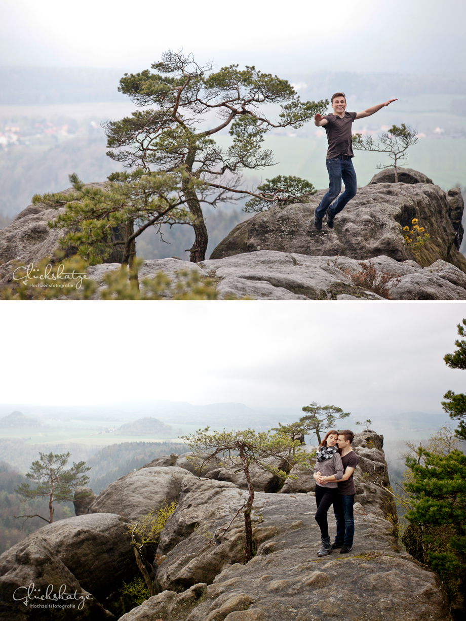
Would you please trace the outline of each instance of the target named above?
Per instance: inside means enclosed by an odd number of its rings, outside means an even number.
[[[199,65],[190,54],[163,53],[154,63],[157,73],[144,70],[125,74],[119,91],[144,109],[129,117],[104,124],[107,152],[113,160],[128,168],[171,174],[184,170],[179,191],[190,210],[195,240],[190,248],[191,261],[205,258],[208,233],[201,203],[217,204],[250,194],[260,201],[280,201],[283,184],[273,184],[261,193],[240,189],[239,173],[272,166],[272,152],[261,143],[270,129],[298,129],[324,112],[327,100],[301,102],[288,81],[247,66],[240,71],[230,65],[212,71],[212,65]],[[270,120],[265,107],[279,104],[278,120]],[[147,106],[153,106],[147,108]],[[219,147],[212,136],[229,129],[231,146]],[[203,196],[191,179],[202,180],[209,188]]]

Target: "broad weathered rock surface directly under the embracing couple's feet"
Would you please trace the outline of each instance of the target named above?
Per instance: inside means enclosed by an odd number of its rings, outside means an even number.
[[[352,552],[318,558],[313,496],[259,493],[254,506],[263,519],[259,528],[275,534],[249,563],[227,566],[211,584],[150,597],[122,621],[452,619],[436,574],[400,552],[390,522],[357,514]],[[334,532],[330,514],[329,526]]]

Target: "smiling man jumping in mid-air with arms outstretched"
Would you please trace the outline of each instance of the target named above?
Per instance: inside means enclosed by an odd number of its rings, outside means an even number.
[[[351,158],[354,157],[352,148],[352,123],[356,119],[375,114],[381,108],[388,106],[396,99],[389,99],[383,104],[372,106],[362,112],[345,112],[346,97],[344,93],[335,93],[332,96],[333,114],[322,117],[316,114],[314,125],[325,127],[329,148],[327,150],[327,171],[329,172],[329,191],[322,198],[314,211],[314,225],[317,230],[322,229],[322,219],[326,218],[329,229],[333,229],[334,217],[342,211],[345,204],[356,196],[356,173]],[[345,191],[341,196],[341,182],[345,184]],[[338,198],[337,198],[338,197]],[[331,204],[337,199],[333,204]]]

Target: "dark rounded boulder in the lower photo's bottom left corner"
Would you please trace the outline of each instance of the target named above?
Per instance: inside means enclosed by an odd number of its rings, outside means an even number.
[[[37,589],[35,595],[44,594],[48,585],[58,594],[65,584],[67,593],[76,590],[85,597],[81,609],[79,602],[75,609],[69,609],[69,617],[65,609],[66,619],[114,619],[99,602],[104,604],[122,581],[130,581],[137,572],[128,525],[120,515],[80,515],[44,526],[12,546],[0,556],[0,594],[5,611],[0,612],[0,619],[9,619],[2,616],[6,613],[19,615],[20,605],[15,604],[13,594],[16,589],[25,591],[31,583]],[[69,604],[69,600],[60,603]],[[31,609],[21,604],[21,610],[25,616],[11,619],[53,618],[45,607]],[[57,610],[63,614],[63,609]]]

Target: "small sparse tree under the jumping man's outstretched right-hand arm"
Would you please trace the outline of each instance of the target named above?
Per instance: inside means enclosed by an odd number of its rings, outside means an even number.
[[[418,132],[415,129],[402,123],[400,127],[392,125],[388,132],[382,132],[375,140],[371,135],[362,136],[362,134],[353,135],[353,148],[360,151],[375,151],[377,153],[386,153],[393,163],[382,165],[380,162],[377,168],[395,168],[395,183],[398,183],[398,167],[400,161],[407,163],[407,150],[411,145],[418,142]]]

